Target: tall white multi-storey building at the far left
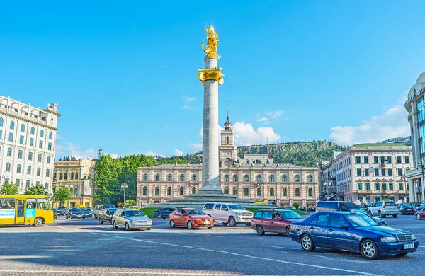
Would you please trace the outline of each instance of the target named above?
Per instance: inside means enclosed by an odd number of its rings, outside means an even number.
[[[0,185],[14,182],[23,192],[41,184],[52,192],[60,115],[57,103],[40,109],[0,96]]]

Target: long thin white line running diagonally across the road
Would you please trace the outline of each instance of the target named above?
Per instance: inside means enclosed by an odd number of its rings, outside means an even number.
[[[91,234],[95,234],[95,235],[101,235],[101,236],[113,236],[113,235],[110,235],[110,234],[96,233],[96,232],[93,232],[93,231],[85,231],[85,230],[81,230],[81,229],[72,229],[72,228],[63,227],[63,226],[57,226],[57,227],[62,228],[62,229],[69,229],[69,230],[74,230],[74,231],[91,233]],[[159,241],[145,241],[145,240],[141,240],[141,239],[138,239],[138,238],[128,238],[128,237],[123,237],[123,236],[115,236],[115,238],[121,238],[121,239],[130,240],[130,241],[140,241],[142,243],[159,244],[159,245],[162,245],[162,246],[174,246],[174,247],[188,248],[188,249],[193,249],[193,250],[198,250],[198,251],[223,253],[223,254],[227,254],[227,255],[235,255],[235,256],[239,256],[239,257],[252,258],[252,259],[257,259],[257,260],[269,260],[271,262],[276,262],[276,263],[287,263],[287,264],[290,264],[290,265],[302,265],[302,266],[307,266],[307,267],[310,267],[310,268],[323,268],[323,269],[327,269],[327,270],[344,271],[344,272],[356,273],[358,275],[374,275],[374,276],[376,275],[376,276],[378,276],[378,274],[373,274],[373,273],[368,273],[368,272],[360,272],[360,271],[356,271],[356,270],[345,270],[343,268],[331,268],[331,267],[327,267],[327,266],[324,266],[324,265],[310,265],[308,263],[290,262],[288,260],[278,260],[278,259],[272,259],[272,258],[265,258],[265,257],[254,256],[254,255],[234,253],[234,252],[230,252],[230,251],[222,251],[222,250],[217,250],[217,249],[198,248],[198,247],[194,247],[194,246],[182,246],[182,245],[179,245],[179,244],[162,243],[162,242],[159,242]]]

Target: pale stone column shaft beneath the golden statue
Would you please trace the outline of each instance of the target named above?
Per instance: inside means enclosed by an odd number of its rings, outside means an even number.
[[[205,57],[205,69],[216,69],[218,57]],[[205,79],[203,102],[203,167],[200,193],[222,194],[218,176],[218,81]]]

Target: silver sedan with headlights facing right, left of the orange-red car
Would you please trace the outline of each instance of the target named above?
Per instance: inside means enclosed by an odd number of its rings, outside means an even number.
[[[127,231],[137,228],[150,230],[152,220],[140,210],[119,208],[113,213],[112,225],[114,229],[125,227]]]

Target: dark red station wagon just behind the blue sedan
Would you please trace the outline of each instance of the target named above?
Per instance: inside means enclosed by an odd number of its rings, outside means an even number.
[[[302,221],[302,217],[292,210],[259,209],[254,213],[251,228],[256,230],[259,235],[274,232],[289,236],[290,224],[300,221]]]

